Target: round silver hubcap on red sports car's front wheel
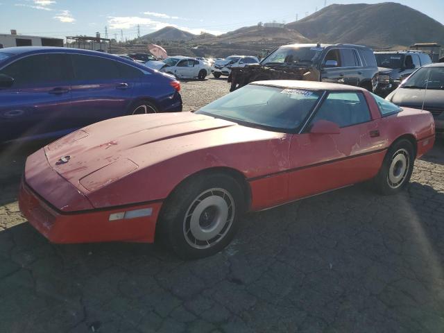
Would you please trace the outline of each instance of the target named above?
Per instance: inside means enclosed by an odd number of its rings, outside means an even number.
[[[234,200],[225,189],[203,191],[189,205],[183,234],[193,248],[211,248],[230,230],[234,220]]]

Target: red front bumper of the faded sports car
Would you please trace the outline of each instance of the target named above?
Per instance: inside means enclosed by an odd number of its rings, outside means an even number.
[[[19,207],[29,223],[53,243],[74,244],[103,241],[153,243],[155,224],[162,202],[65,213],[47,203],[22,180],[19,191]],[[146,212],[147,209],[149,212],[150,208],[150,216],[110,221],[111,214],[135,210]]]

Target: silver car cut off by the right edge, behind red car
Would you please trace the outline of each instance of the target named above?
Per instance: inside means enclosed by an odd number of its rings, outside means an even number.
[[[388,101],[402,108],[427,110],[435,119],[436,134],[444,134],[444,63],[425,65],[388,94]]]

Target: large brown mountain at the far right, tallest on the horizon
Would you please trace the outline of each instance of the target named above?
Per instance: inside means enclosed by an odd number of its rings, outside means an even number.
[[[444,43],[444,26],[400,3],[333,4],[287,24],[313,42],[352,43],[375,48]]]

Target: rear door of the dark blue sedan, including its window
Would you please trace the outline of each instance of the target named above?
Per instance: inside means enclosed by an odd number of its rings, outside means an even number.
[[[136,83],[121,77],[121,62],[76,53],[71,54],[71,62],[72,128],[127,114]]]

